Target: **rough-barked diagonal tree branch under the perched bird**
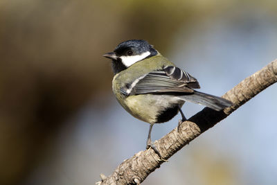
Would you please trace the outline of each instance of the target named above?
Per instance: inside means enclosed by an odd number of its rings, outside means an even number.
[[[163,159],[169,159],[175,152],[186,146],[190,141],[199,136],[199,134],[202,134],[216,123],[222,121],[222,119],[229,116],[238,107],[276,81],[277,60],[274,60],[260,71],[242,80],[242,82],[222,96],[233,102],[232,107],[228,107],[221,112],[217,112],[208,107],[202,109],[201,112],[189,118],[188,121],[184,121],[179,127],[179,132],[177,132],[176,127],[166,134],[166,136],[155,141],[155,146],[157,146]],[[163,162],[154,150],[150,148],[138,152],[133,157],[123,161],[109,177],[101,175],[102,181],[96,184],[140,184],[150,173],[159,168]]]

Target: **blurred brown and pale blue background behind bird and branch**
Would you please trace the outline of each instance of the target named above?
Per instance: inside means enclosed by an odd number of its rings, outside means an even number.
[[[274,0],[1,0],[0,184],[94,184],[145,149],[148,124],[116,102],[102,57],[120,42],[148,40],[221,96],[277,58],[276,8]],[[277,184],[276,94],[276,85],[262,91],[143,184]],[[154,125],[152,139],[179,118]]]

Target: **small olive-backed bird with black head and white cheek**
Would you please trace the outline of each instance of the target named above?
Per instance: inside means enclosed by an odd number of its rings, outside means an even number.
[[[178,112],[182,121],[186,121],[181,111],[186,101],[217,111],[232,105],[224,98],[195,91],[200,88],[197,79],[176,67],[143,39],[121,42],[114,52],[103,56],[112,60],[112,90],[116,99],[129,114],[150,123],[146,148],[153,148],[159,157],[151,141],[154,123],[169,121]]]

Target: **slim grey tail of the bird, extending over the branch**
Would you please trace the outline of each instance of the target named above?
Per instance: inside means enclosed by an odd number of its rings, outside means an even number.
[[[198,103],[200,105],[210,107],[211,109],[215,109],[217,111],[220,111],[226,107],[233,105],[233,103],[231,103],[231,101],[229,100],[226,100],[218,96],[213,96],[211,94],[205,94],[199,91],[195,91],[194,94],[179,97],[188,102]]]

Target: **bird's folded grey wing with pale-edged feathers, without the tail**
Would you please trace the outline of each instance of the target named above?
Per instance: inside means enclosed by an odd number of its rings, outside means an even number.
[[[120,89],[125,96],[149,93],[188,93],[199,89],[196,78],[178,67],[168,66],[152,71]]]

